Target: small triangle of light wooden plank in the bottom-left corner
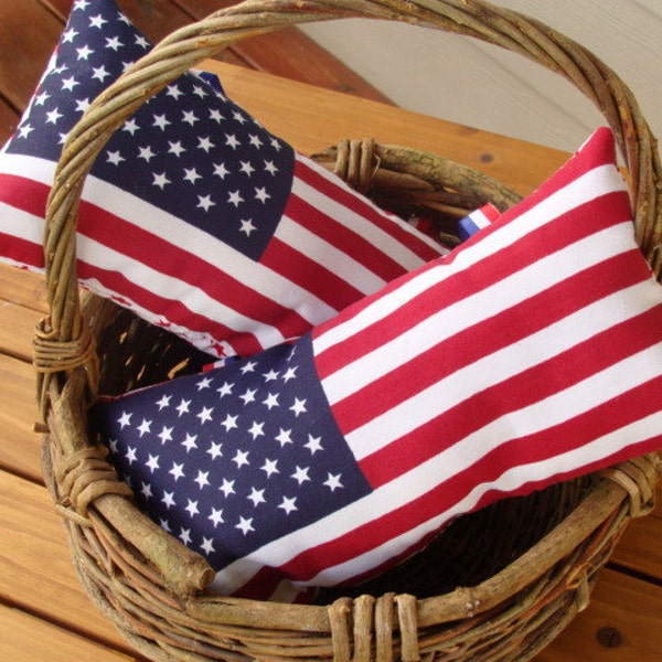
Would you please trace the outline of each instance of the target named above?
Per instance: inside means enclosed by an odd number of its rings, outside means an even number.
[[[12,662],[131,662],[138,660],[0,605],[0,659]]]

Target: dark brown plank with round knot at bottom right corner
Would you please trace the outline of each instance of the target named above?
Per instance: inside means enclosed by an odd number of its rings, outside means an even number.
[[[535,662],[577,660],[662,660],[662,587],[604,570],[588,609],[535,658]]]

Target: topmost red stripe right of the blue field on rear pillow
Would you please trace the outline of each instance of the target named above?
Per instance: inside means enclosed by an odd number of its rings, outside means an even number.
[[[423,238],[421,234],[412,232],[410,227],[401,225],[402,221],[394,221],[387,213],[376,211],[375,207],[364,197],[353,191],[341,186],[335,182],[322,177],[317,170],[309,167],[301,159],[295,161],[295,178],[300,179],[313,189],[322,192],[328,197],[337,200],[343,206],[353,212],[370,218],[371,222],[380,227],[384,233],[394,237],[398,243],[407,246],[412,253],[417,255],[423,261],[429,261],[439,257],[441,249]]]

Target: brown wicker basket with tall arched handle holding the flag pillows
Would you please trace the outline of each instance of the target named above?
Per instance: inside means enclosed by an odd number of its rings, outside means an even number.
[[[99,388],[126,392],[197,370],[203,361],[181,341],[107,301],[89,297],[81,303],[73,237],[82,184],[95,156],[146,98],[231,42],[340,17],[459,32],[567,77],[598,105],[617,136],[638,239],[658,277],[662,274],[654,139],[627,87],[576,43],[478,0],[237,6],[168,38],[99,97],[70,136],[47,212],[51,314],[35,337],[49,430],[46,480],[89,596],[152,660],[528,660],[586,607],[596,574],[624,526],[652,508],[655,457],[461,517],[433,546],[353,595],[327,591],[318,605],[291,606],[206,591],[213,575],[206,562],[138,512],[128,488],[86,436],[85,410]],[[471,209],[487,200],[508,206],[516,200],[483,175],[406,149],[345,142],[319,158],[369,185],[380,204],[438,213],[445,231],[452,228],[449,207]],[[367,179],[356,163],[370,167]]]

